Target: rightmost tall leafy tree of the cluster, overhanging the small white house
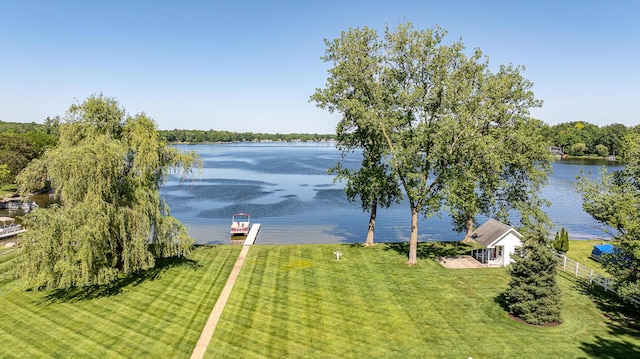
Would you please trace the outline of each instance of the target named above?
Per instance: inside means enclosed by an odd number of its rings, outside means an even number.
[[[467,91],[455,115],[467,135],[464,155],[444,188],[454,227],[466,231],[464,241],[471,240],[478,214],[505,223],[518,214],[524,226],[548,223],[541,209],[547,203],[539,193],[551,171],[551,155],[544,124],[529,113],[541,101],[521,75],[522,68],[501,66],[495,74],[484,66],[476,68],[476,73],[462,72],[456,80]]]

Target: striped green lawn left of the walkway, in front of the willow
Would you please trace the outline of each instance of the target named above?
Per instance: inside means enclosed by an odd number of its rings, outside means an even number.
[[[11,280],[0,286],[0,357],[188,357],[239,250],[199,247],[190,261],[88,298],[25,292]]]

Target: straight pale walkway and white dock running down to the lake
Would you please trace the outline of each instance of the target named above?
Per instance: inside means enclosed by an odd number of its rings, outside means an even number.
[[[244,265],[244,260],[247,257],[249,248],[251,247],[253,242],[255,242],[259,230],[259,223],[251,226],[251,230],[247,235],[247,239],[245,239],[242,250],[240,251],[240,255],[238,256],[238,260],[236,260],[236,264],[233,265],[233,269],[231,270],[229,279],[227,279],[227,283],[224,285],[224,288],[222,288],[222,293],[220,293],[218,301],[216,301],[216,304],[211,310],[211,314],[209,314],[207,324],[205,324],[204,329],[202,329],[202,333],[200,333],[200,339],[198,339],[196,347],[193,349],[193,353],[191,353],[191,359],[202,359],[204,357],[204,353],[207,352],[207,347],[209,346],[211,337],[213,337],[213,332],[216,330],[216,326],[218,325],[218,321],[220,320],[220,316],[222,315],[224,306],[227,304],[227,300],[229,300],[231,290],[236,284],[236,279],[238,279],[240,270]]]

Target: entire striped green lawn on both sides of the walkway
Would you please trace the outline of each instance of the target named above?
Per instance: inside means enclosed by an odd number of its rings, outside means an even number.
[[[341,260],[333,252],[343,253]],[[240,246],[198,247],[188,261],[110,288],[25,292],[0,256],[0,357],[188,358]],[[560,274],[564,323],[533,327],[499,304],[504,269],[445,269],[446,245],[256,245],[208,358],[639,357],[635,320]],[[611,318],[611,319],[608,319]]]

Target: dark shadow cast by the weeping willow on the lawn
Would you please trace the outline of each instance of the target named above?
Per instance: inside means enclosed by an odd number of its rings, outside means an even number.
[[[201,265],[188,258],[158,258],[153,268],[122,276],[111,284],[52,290],[38,304],[68,303],[118,295],[126,287],[137,286],[146,281],[159,279],[164,272],[177,267],[196,270]]]

